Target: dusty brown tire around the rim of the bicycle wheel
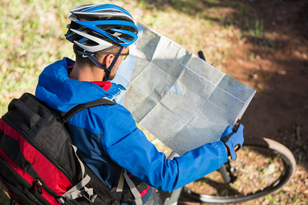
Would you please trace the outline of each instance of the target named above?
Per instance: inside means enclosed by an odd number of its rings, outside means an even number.
[[[217,196],[197,194],[189,190],[187,187],[184,187],[184,194],[191,199],[195,199],[204,203],[238,203],[257,199],[259,197],[278,192],[292,179],[295,173],[296,161],[292,152],[284,145],[271,139],[249,136],[245,137],[243,147],[245,146],[249,148],[265,148],[269,152],[272,152],[274,155],[280,157],[283,162],[282,175],[280,175],[276,181],[267,187],[261,188],[260,190],[253,191],[251,193]]]

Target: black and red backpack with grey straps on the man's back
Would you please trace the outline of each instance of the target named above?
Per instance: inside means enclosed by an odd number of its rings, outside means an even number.
[[[64,125],[85,108],[114,104],[102,98],[62,117],[30,93],[13,99],[0,119],[0,181],[11,199],[19,205],[120,205],[121,194],[112,194],[83,164]]]

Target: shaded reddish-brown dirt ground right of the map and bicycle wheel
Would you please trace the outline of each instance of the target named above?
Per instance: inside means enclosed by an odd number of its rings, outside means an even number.
[[[246,136],[267,137],[293,152],[298,167],[277,201],[249,204],[306,204],[308,198],[308,2],[251,1],[247,15],[232,23],[263,19],[266,34],[242,38],[233,45],[226,73],[257,90],[240,120]],[[246,7],[246,8],[247,8]],[[237,8],[241,9],[241,8]],[[228,17],[226,16],[226,19]],[[245,19],[246,18],[246,19]],[[296,197],[299,197],[299,200]],[[195,205],[181,196],[180,205]],[[241,203],[241,204],[248,204]]]

